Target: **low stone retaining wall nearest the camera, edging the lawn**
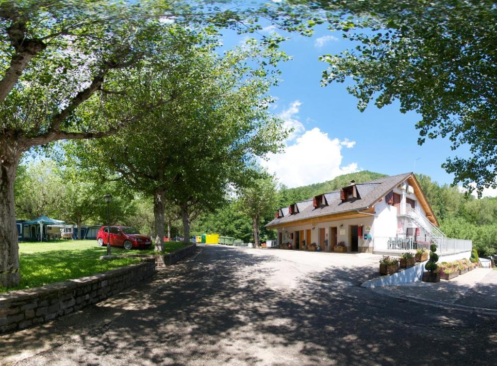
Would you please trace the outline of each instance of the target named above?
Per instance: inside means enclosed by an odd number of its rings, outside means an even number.
[[[0,334],[67,315],[134,286],[155,272],[155,261],[142,259],[142,263],[94,276],[2,293]]]

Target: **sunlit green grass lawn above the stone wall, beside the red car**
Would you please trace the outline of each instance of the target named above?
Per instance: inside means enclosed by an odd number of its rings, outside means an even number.
[[[171,252],[184,243],[167,244],[166,252]],[[152,250],[125,250],[112,247],[112,254],[154,253]],[[107,253],[106,247],[98,247],[96,240],[68,240],[55,242],[19,243],[21,283],[16,288],[1,288],[0,293],[19,289],[29,289],[54,282],[85,277],[109,271],[114,268],[139,263],[139,258],[118,258],[101,261],[99,257]]]

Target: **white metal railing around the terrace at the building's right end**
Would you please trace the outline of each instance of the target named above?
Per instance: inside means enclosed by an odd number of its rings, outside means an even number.
[[[414,241],[412,237],[374,236],[373,250],[399,250],[409,251],[416,249],[430,249],[430,244],[437,245],[438,254],[453,254],[469,252],[473,247],[471,240],[451,238],[431,238],[418,236]]]

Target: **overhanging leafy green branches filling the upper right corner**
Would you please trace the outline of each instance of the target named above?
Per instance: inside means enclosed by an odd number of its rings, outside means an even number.
[[[416,111],[421,145],[448,137],[469,157],[442,165],[478,192],[497,187],[497,8],[494,1],[290,0],[330,11],[330,28],[356,44],[329,63],[323,84],[353,81],[362,111],[398,99]]]

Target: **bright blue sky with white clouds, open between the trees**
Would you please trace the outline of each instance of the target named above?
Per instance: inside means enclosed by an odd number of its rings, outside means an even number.
[[[262,33],[274,31],[269,26]],[[350,41],[325,27],[317,29],[313,37],[289,36],[281,48],[293,60],[278,66],[282,81],[272,87],[271,95],[277,99],[273,112],[285,120],[285,126],[293,127],[294,133],[285,142],[283,153],[261,161],[281,183],[298,187],[360,170],[388,175],[414,171],[439,184],[453,183],[454,176],[441,164],[449,156],[468,156],[467,147],[452,151],[450,141],[441,138],[419,146],[414,125],[421,118],[415,112],[401,113],[398,101],[382,109],[371,104],[360,112],[346,83],[321,86],[327,64],[320,62],[319,56],[339,54],[351,47]],[[244,37],[225,34],[223,42],[240,44]],[[487,189],[484,195],[496,196],[497,190]]]

